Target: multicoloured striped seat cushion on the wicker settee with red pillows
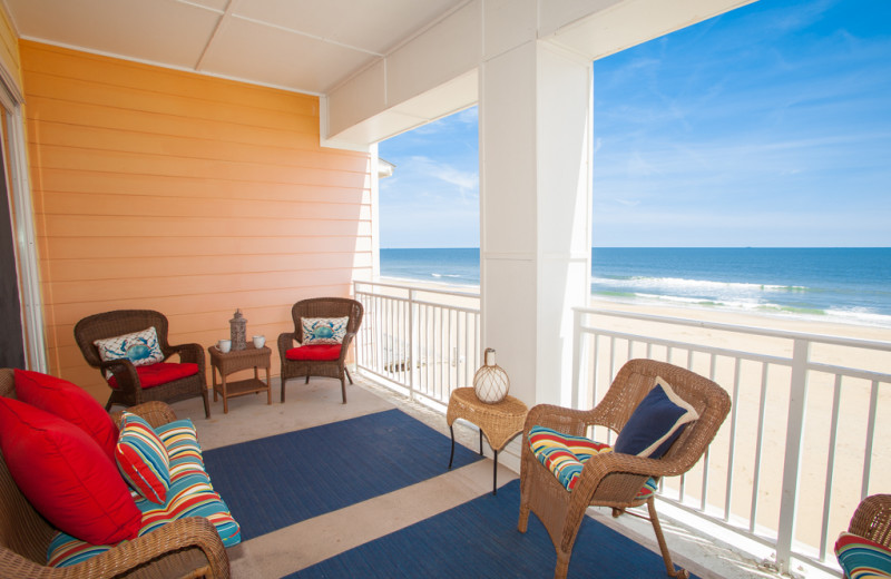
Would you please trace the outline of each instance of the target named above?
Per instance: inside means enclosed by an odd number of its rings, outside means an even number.
[[[159,426],[155,432],[167,448],[170,488],[164,504],[153,503],[133,493],[136,507],[143,513],[138,534],[146,534],[183,517],[205,517],[216,527],[224,546],[238,544],[242,540],[241,528],[210,485],[192,421],[178,420]],[[47,561],[50,567],[66,567],[96,557],[112,547],[89,544],[59,532],[49,544]]]

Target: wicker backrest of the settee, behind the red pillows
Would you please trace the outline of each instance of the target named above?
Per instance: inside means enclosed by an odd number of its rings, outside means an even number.
[[[0,369],[0,396],[17,398],[12,369]],[[38,565],[47,565],[47,547],[55,533],[56,529],[21,493],[0,452],[0,548]]]

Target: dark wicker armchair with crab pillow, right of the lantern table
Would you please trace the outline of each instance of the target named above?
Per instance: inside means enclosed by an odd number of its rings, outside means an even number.
[[[302,300],[291,308],[291,317],[294,320],[294,331],[285,332],[278,336],[278,355],[282,361],[282,402],[285,401],[285,382],[292,377],[310,376],[336,377],[341,381],[341,392],[343,403],[346,404],[346,383],[344,375],[353,383],[350,371],[346,370],[345,360],[350,344],[362,324],[362,304],[349,297],[314,297]],[[337,360],[314,361],[314,360],[287,360],[286,353],[294,347],[294,342],[303,343],[303,317],[349,317],[346,323],[346,335],[341,343],[341,354]]]

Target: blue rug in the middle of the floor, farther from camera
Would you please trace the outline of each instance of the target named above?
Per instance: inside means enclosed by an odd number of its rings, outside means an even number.
[[[438,477],[451,441],[399,410],[204,452],[248,540]],[[456,444],[452,469],[480,455]]]

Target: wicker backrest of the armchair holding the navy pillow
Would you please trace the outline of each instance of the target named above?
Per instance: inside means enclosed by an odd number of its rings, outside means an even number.
[[[616,374],[597,410],[603,412],[607,426],[621,432],[634,410],[656,384],[656,377],[667,381],[699,414],[663,457],[663,460],[678,461],[679,469],[689,469],[708,448],[731,410],[730,395],[715,382],[666,362],[629,360]]]

